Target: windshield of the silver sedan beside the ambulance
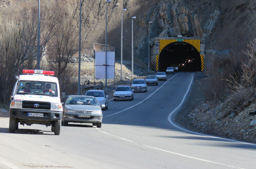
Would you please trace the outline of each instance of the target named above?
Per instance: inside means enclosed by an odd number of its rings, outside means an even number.
[[[95,98],[86,96],[70,96],[66,104],[99,105]]]

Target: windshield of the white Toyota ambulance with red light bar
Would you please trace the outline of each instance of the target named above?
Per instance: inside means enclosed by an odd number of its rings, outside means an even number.
[[[20,80],[17,94],[58,96],[57,84],[47,81]]]

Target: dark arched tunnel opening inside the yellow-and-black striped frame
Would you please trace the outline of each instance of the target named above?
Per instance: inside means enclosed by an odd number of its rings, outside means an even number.
[[[159,55],[159,71],[178,65],[179,71],[201,71],[201,58],[198,50],[186,42],[173,42],[166,45]]]

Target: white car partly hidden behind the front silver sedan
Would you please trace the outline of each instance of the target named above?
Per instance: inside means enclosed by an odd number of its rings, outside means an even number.
[[[94,96],[98,100],[102,110],[109,108],[109,96],[105,95],[103,90],[89,90],[86,92],[86,96]]]

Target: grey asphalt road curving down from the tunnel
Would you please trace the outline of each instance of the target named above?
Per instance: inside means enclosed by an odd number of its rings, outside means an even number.
[[[0,118],[0,168],[255,168],[256,145],[189,132],[173,122],[193,73],[169,74],[133,101],[110,101],[102,127],[70,123],[8,132]]]

